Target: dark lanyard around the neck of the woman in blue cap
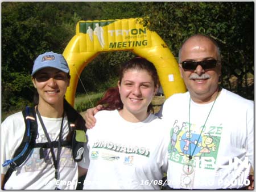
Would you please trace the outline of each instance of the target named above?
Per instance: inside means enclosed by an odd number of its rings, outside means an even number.
[[[40,123],[43,127],[44,134],[46,135],[47,142],[49,144],[49,147],[50,147],[50,150],[51,150],[51,153],[52,153],[53,164],[54,164],[54,167],[55,167],[55,178],[56,178],[56,180],[58,180],[59,179],[58,172],[59,172],[59,163],[60,163],[60,152],[61,152],[61,135],[62,135],[62,130],[63,130],[64,112],[63,112],[63,116],[62,116],[62,120],[61,120],[61,126],[60,126],[59,142],[58,142],[58,147],[57,147],[57,159],[56,159],[55,153],[53,151],[53,146],[52,146],[51,139],[49,138],[49,134],[47,133],[46,126],[44,125],[44,122],[43,122],[42,117],[39,113],[38,107],[36,107],[36,114],[38,114],[39,121],[40,121]]]

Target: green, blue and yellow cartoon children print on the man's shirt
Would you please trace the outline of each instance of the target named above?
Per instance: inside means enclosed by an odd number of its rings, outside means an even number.
[[[176,163],[184,164],[189,155],[191,155],[193,156],[192,162],[195,167],[214,169],[221,133],[221,126],[201,126],[197,128],[193,124],[191,124],[189,132],[188,122],[176,120],[170,133],[169,159]]]

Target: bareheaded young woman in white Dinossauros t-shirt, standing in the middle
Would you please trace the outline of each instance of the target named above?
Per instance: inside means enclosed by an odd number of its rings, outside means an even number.
[[[158,82],[154,65],[144,58],[122,65],[118,89],[101,100],[108,110],[98,112],[96,126],[87,131],[89,152],[80,164],[88,168],[84,189],[160,189],[168,129],[150,113]]]

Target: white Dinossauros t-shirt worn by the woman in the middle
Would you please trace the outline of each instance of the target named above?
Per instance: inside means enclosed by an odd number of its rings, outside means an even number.
[[[87,130],[89,161],[84,189],[160,189],[167,172],[167,127],[154,114],[132,123],[118,110],[102,110]],[[89,163],[89,165],[88,165]]]

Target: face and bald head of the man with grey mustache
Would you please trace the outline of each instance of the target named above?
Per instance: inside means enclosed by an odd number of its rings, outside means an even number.
[[[195,70],[184,70],[183,61],[204,61],[218,58],[216,45],[206,37],[192,37],[183,45],[180,52],[179,69],[184,83],[196,103],[209,103],[218,93],[218,78],[221,75],[221,64],[213,69],[204,70],[198,65]]]

